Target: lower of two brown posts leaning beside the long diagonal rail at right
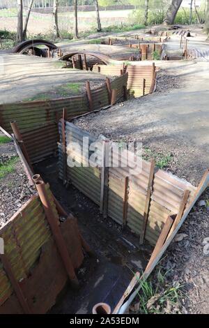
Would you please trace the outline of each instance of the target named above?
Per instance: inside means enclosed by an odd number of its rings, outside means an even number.
[[[162,232],[160,232],[160,237],[157,239],[157,243],[150,257],[150,260],[147,264],[146,270],[150,267],[150,265],[153,263],[153,260],[155,260],[156,255],[160,252],[164,242],[167,239],[167,236],[169,234],[172,225],[173,225],[173,218],[171,218],[171,216],[168,216],[167,221],[164,223],[164,226],[162,228]]]

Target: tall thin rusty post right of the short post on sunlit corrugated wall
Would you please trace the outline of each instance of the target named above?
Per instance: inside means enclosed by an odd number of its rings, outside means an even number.
[[[153,179],[154,179],[154,173],[155,173],[155,160],[151,159],[150,163],[150,174],[148,178],[148,187],[147,187],[147,194],[146,194],[146,201],[145,201],[145,208],[144,208],[144,221],[143,221],[143,227],[140,235],[140,244],[144,243],[144,236],[146,232],[146,224],[148,221],[148,213],[149,213],[149,207],[150,207],[150,199],[153,191]]]

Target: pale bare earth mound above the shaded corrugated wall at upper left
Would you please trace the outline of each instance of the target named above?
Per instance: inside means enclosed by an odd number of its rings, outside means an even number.
[[[103,75],[85,70],[61,68],[57,59],[44,59],[21,54],[3,54],[0,57],[0,103],[22,101],[37,94],[47,93],[62,84],[79,84],[86,80],[98,87]],[[68,93],[68,96],[75,95]],[[59,98],[59,97],[56,97]]]

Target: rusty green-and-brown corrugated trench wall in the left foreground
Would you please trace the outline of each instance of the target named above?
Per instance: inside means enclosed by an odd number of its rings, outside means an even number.
[[[52,193],[49,186],[46,188],[59,224]],[[77,223],[69,218],[60,228],[76,269],[84,258]],[[68,276],[38,195],[32,196],[0,229],[0,237],[4,241],[4,255],[0,255],[0,313],[24,312],[3,267],[2,257],[10,263],[31,312],[46,313],[55,304]]]

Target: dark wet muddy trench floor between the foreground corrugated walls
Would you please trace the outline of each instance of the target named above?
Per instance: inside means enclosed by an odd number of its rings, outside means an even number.
[[[95,257],[84,258],[77,272],[79,290],[73,291],[66,285],[49,312],[92,313],[93,306],[101,301],[113,310],[134,272],[144,271],[153,247],[148,242],[139,246],[139,237],[122,230],[110,218],[103,219],[98,206],[75,187],[66,189],[58,179],[56,158],[36,164],[34,170],[49,182],[63,208],[77,218],[84,239],[95,253]]]

